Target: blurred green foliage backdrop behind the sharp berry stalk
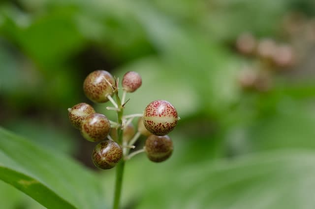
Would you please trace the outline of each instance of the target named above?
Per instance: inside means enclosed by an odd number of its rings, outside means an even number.
[[[128,162],[125,208],[314,208],[315,1],[0,2],[2,127],[95,170],[67,108],[92,104],[99,69],[142,75],[127,114],[164,99],[181,117],[168,161]],[[95,172],[111,194],[114,172]],[[2,182],[0,203],[43,208]]]

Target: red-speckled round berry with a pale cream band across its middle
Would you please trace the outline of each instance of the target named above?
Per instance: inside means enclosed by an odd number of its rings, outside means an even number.
[[[142,120],[152,134],[164,136],[175,128],[178,115],[172,104],[165,100],[156,100],[145,108]]]

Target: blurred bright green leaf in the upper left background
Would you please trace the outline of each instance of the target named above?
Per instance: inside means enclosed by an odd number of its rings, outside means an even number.
[[[8,16],[2,26],[3,34],[21,47],[40,70],[59,71],[55,65],[65,61],[74,51],[82,47],[83,37],[79,33],[72,14],[72,8],[63,8],[40,18],[29,19],[21,25],[16,15]],[[43,68],[44,67],[44,68]]]

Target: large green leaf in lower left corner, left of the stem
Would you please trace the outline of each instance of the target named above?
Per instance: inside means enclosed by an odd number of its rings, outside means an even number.
[[[100,209],[98,179],[58,150],[36,146],[0,128],[0,179],[49,209]]]

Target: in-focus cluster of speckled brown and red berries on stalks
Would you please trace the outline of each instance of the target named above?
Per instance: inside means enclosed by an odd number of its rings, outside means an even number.
[[[167,101],[157,100],[148,104],[141,114],[123,115],[128,102],[125,102],[126,93],[136,91],[142,84],[142,78],[134,71],[125,73],[122,99],[118,94],[118,83],[119,79],[108,71],[95,70],[83,84],[84,93],[92,102],[110,101],[114,105],[107,109],[117,112],[117,122],[96,113],[90,104],[79,103],[68,108],[70,122],[80,130],[83,138],[99,142],[92,153],[94,165],[100,169],[111,169],[120,160],[128,160],[141,152],[145,152],[153,162],[168,159],[173,152],[173,142],[167,134],[175,128],[179,119],[175,107]],[[112,96],[115,96],[116,101]],[[135,117],[140,117],[137,131],[131,123]],[[141,135],[147,137],[145,146],[129,154]]]

